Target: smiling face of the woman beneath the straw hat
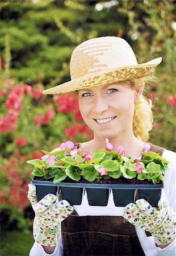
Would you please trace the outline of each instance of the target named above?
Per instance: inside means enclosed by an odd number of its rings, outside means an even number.
[[[136,90],[126,81],[78,91],[79,110],[98,137],[132,134]]]

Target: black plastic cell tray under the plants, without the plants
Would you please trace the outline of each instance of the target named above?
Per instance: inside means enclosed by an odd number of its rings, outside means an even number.
[[[89,205],[106,206],[109,189],[112,189],[116,207],[124,207],[132,203],[136,190],[139,192],[139,198],[143,198],[153,207],[157,207],[161,197],[161,189],[164,188],[163,184],[53,183],[43,180],[32,180],[32,183],[36,185],[38,201],[48,193],[56,195],[57,190],[60,189],[62,199],[69,201],[72,205],[81,204],[83,188],[86,188]]]

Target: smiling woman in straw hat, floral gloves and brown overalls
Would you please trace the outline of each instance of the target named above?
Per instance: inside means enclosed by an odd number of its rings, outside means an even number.
[[[124,39],[90,39],[73,51],[72,80],[43,92],[78,93],[82,117],[94,132],[91,141],[80,144],[81,150],[104,148],[108,138],[115,148],[123,146],[126,155],[140,158],[141,151],[151,146],[170,163],[158,208],[143,199],[125,208],[115,207],[112,193],[107,207],[90,206],[86,193],[82,204],[73,207],[50,194],[37,203],[35,186],[30,184],[28,198],[36,214],[31,256],[175,255],[175,153],[145,143],[152,129],[152,112],[143,90],[161,60],[137,64]],[[71,214],[73,208],[76,212]]]

